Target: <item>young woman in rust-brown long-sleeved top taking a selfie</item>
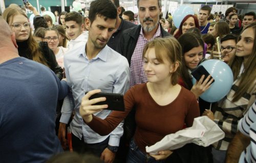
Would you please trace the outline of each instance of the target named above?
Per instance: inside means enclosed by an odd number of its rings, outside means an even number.
[[[110,133],[136,108],[137,128],[130,143],[127,162],[163,162],[172,151],[159,151],[148,157],[146,146],[160,141],[165,135],[175,133],[193,124],[199,116],[199,106],[193,93],[177,84],[180,73],[181,46],[175,38],[157,38],[149,42],[143,51],[144,71],[148,82],[136,85],[124,95],[125,112],[113,111],[102,120],[93,115],[108,105],[92,105],[105,98],[89,100],[100,90],[90,91],[83,97],[80,115],[101,135]]]

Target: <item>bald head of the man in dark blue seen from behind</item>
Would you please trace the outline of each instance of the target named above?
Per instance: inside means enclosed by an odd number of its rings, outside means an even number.
[[[12,31],[10,29],[10,26],[7,24],[7,22],[0,16],[0,47],[3,46],[3,44],[6,45],[7,42],[12,40]]]

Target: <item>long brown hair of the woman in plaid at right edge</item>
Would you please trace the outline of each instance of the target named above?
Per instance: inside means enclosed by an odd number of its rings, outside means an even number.
[[[254,30],[254,34],[252,34],[254,35],[252,53],[249,56],[247,62],[244,63],[244,73],[242,73],[241,75],[241,82],[238,86],[238,90],[233,95],[233,102],[238,101],[246,93],[246,91],[250,90],[255,84],[254,80],[256,78],[256,22],[246,26],[243,32],[248,28],[253,28]],[[241,36],[239,36],[238,41],[239,40],[241,40]],[[229,62],[229,66],[233,72],[234,80],[238,78],[243,61],[243,57],[234,56]]]

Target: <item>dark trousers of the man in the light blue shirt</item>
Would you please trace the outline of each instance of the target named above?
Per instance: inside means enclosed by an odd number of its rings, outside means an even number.
[[[72,147],[78,153],[90,153],[96,156],[101,156],[103,150],[108,147],[109,138],[100,143],[88,144],[84,143],[83,137],[80,140],[72,133]]]

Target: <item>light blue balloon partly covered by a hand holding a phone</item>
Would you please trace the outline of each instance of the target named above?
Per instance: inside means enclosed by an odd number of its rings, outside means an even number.
[[[200,97],[207,102],[216,102],[227,95],[233,85],[233,73],[230,67],[220,60],[207,60],[202,65],[215,82]],[[196,79],[193,77],[193,84]]]

